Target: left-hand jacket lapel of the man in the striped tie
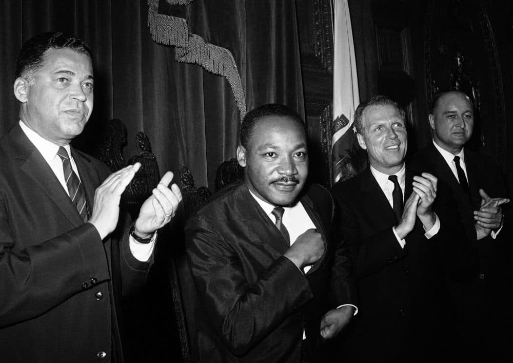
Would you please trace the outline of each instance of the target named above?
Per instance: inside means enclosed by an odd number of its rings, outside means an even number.
[[[11,136],[17,150],[16,158],[21,161],[20,168],[23,173],[41,188],[42,192],[60,209],[63,216],[74,227],[84,224],[76,206],[63,189],[53,170],[19,125],[12,129]]]

